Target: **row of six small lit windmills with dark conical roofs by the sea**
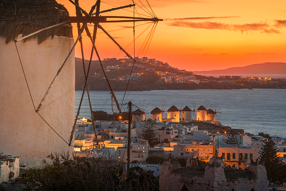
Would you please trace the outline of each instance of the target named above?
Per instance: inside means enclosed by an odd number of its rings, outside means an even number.
[[[163,104],[161,104],[163,106]],[[151,112],[150,116],[152,120],[159,121],[169,121],[169,122],[187,122],[187,121],[216,121],[218,114],[221,113],[218,108],[218,104],[214,103],[208,107],[208,104],[205,106],[200,106],[196,109],[195,104],[193,104],[193,109],[190,109],[188,106],[185,106],[183,109],[179,104],[178,107],[172,105],[167,111],[164,107],[155,107]],[[144,109],[143,109],[144,110]],[[145,119],[145,111],[137,109],[133,112],[133,120],[140,121]]]

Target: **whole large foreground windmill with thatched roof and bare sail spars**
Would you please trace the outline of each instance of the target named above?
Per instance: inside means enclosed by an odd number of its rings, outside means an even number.
[[[118,111],[121,112],[95,46],[98,29],[102,30],[128,58],[134,62],[136,60],[114,40],[101,26],[101,23],[131,22],[135,28],[136,22],[157,24],[162,20],[158,19],[153,11],[150,12],[154,16],[150,18],[135,17],[134,10],[132,11],[133,17],[104,16],[104,13],[109,11],[134,7],[136,3],[100,10],[101,2],[97,0],[87,13],[79,6],[78,0],[69,1],[75,6],[76,16],[69,16],[67,9],[55,0],[3,0],[0,3],[0,46],[2,47],[0,57],[3,66],[9,65],[1,70],[3,84],[5,84],[1,86],[1,90],[5,92],[5,102],[2,104],[3,113],[5,113],[5,117],[6,115],[11,116],[17,109],[23,114],[19,120],[3,124],[0,150],[21,156],[22,161],[27,165],[41,165],[43,158],[50,153],[73,151],[73,147],[69,146],[72,146],[74,140],[74,131],[85,90],[88,94],[96,135],[88,92],[88,76],[94,52],[108,82],[112,100],[116,103]],[[78,26],[76,40],[72,38],[71,23],[76,23]],[[87,23],[94,24],[92,34],[89,32]],[[84,31],[92,42],[91,56],[86,68],[81,39]],[[78,42],[80,42],[82,52],[85,85],[74,120],[74,48]],[[31,105],[27,103],[31,103]],[[69,134],[71,126],[72,132]],[[11,129],[11,127],[13,128]],[[17,132],[18,135],[11,132]],[[23,136],[25,133],[29,133],[29,136]],[[15,144],[10,143],[11,139],[16,140]],[[19,144],[23,142],[30,142],[31,146]],[[45,145],[45,148],[42,145]],[[38,154],[31,159],[31,153]]]

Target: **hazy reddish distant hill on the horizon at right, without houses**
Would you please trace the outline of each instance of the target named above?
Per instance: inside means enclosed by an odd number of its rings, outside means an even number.
[[[265,62],[224,70],[193,71],[194,74],[286,74],[286,63]]]

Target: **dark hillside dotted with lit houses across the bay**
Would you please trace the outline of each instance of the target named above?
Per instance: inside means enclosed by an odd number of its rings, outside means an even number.
[[[89,61],[85,60],[86,66]],[[241,76],[202,76],[192,71],[179,70],[154,58],[104,58],[104,70],[115,91],[125,90],[130,78],[128,90],[168,90],[168,89],[242,89],[242,88],[286,88],[285,79],[271,79],[258,76],[242,78]],[[85,83],[82,59],[75,58],[75,89],[82,90]],[[133,67],[133,70],[132,70]],[[132,74],[130,72],[132,70]],[[98,60],[93,60],[89,73],[90,90],[109,90],[105,76]]]

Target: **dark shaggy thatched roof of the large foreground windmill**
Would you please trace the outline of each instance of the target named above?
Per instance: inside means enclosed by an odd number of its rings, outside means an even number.
[[[6,38],[8,43],[18,34],[31,34],[66,21],[68,16],[67,9],[55,0],[0,0],[0,37]],[[37,39],[40,44],[54,35],[72,37],[72,25],[69,23],[46,29],[23,41]]]

